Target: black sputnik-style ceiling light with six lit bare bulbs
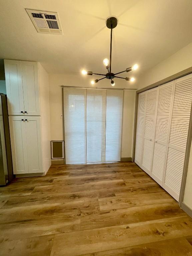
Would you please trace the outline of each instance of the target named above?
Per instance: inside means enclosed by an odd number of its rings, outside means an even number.
[[[110,62],[109,62],[109,60],[107,58],[105,58],[103,60],[103,63],[105,65],[106,69],[108,70],[108,73],[104,75],[104,74],[93,73],[92,71],[86,71],[86,70],[82,70],[81,73],[83,75],[91,75],[91,76],[92,75],[100,75],[100,76],[104,76],[101,79],[92,80],[91,84],[95,84],[95,83],[99,82],[100,80],[102,80],[104,78],[110,79],[112,86],[115,85],[115,82],[112,80],[113,78],[121,78],[121,79],[125,79],[126,81],[134,82],[135,81],[134,77],[131,77],[131,78],[130,77],[119,77],[119,76],[116,76],[116,75],[118,75],[120,73],[123,73],[123,72],[130,72],[130,71],[134,71],[134,70],[138,69],[138,65],[137,64],[133,65],[132,67],[126,68],[126,70],[118,72],[118,73],[112,73],[111,72],[112,30],[113,30],[113,28],[115,28],[117,26],[117,18],[115,18],[115,17],[108,18],[107,21],[106,21],[106,26],[107,26],[107,28],[111,29]]]

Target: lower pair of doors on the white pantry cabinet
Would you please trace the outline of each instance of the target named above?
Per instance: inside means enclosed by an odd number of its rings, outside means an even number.
[[[13,173],[42,173],[41,117],[9,116]]]

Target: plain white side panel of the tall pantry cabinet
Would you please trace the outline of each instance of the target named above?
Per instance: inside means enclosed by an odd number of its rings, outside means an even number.
[[[51,127],[50,127],[50,104],[49,104],[49,76],[39,63],[39,88],[41,105],[41,130],[43,169],[46,174],[51,166]]]

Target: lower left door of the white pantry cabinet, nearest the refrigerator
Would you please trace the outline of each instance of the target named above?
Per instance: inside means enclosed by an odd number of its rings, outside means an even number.
[[[28,173],[25,120],[22,116],[9,116],[13,173]]]

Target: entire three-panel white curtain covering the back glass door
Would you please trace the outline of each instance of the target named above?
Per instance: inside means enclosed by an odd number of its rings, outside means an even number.
[[[123,90],[63,88],[66,164],[121,159]]]

